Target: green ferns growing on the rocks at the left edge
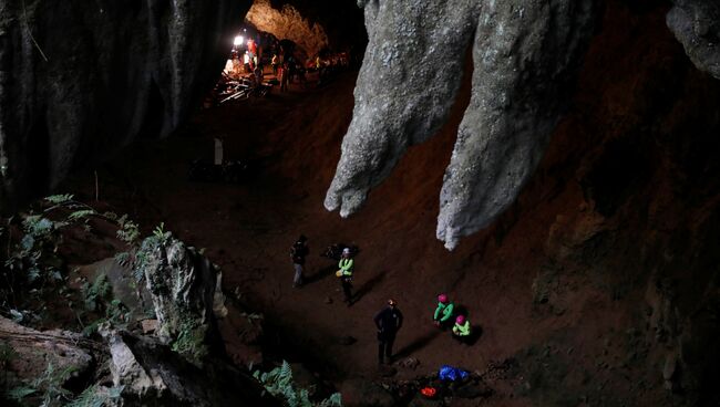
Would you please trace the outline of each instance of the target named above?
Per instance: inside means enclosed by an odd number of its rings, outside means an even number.
[[[117,217],[113,212],[100,213],[92,207],[74,200],[70,194],[44,198],[27,213],[7,219],[0,228],[0,237],[6,248],[0,269],[0,314],[19,323],[39,321],[47,309],[47,299],[66,298],[72,306],[69,289],[69,271],[60,254],[63,233],[71,227],[92,230],[91,219],[102,219],[117,227],[117,236],[125,243],[135,244],[140,236],[137,225],[127,216]],[[120,255],[125,264],[131,255]],[[100,300],[107,300],[109,285],[100,279],[93,290],[83,285],[85,305],[89,312],[100,310]],[[102,292],[102,284],[106,284]],[[107,300],[110,302],[111,300]],[[116,311],[116,310],[111,310]]]

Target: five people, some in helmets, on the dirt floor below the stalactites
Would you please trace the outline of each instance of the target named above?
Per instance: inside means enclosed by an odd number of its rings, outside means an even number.
[[[290,249],[290,258],[295,267],[294,288],[300,288],[304,283],[305,258],[310,253],[308,239],[300,234],[298,240]],[[336,276],[340,280],[342,288],[343,301],[350,306],[352,304],[352,273],[354,261],[350,248],[342,249],[338,271]],[[457,307],[450,301],[448,294],[438,295],[438,306],[433,314],[433,322],[441,328],[452,326],[452,336],[464,344],[470,344],[472,326],[466,315],[456,312]],[[395,341],[398,331],[402,327],[402,312],[398,309],[398,302],[394,299],[388,300],[387,306],[373,317],[378,328],[378,363],[392,363],[392,345]]]

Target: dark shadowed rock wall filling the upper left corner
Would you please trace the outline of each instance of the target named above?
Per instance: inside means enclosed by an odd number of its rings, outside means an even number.
[[[216,80],[248,0],[0,2],[6,210],[73,165],[169,134]]]

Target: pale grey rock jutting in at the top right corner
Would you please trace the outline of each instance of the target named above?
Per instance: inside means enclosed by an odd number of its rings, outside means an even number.
[[[720,3],[673,0],[666,22],[692,63],[720,80]]]

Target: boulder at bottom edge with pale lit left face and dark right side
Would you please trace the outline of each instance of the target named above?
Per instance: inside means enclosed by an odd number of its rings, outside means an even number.
[[[260,385],[224,361],[199,368],[157,338],[102,332],[110,346],[112,380],[124,406],[280,406]],[[239,404],[238,404],[239,403]]]

